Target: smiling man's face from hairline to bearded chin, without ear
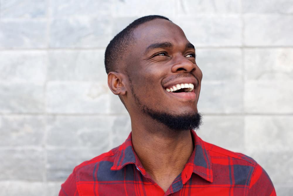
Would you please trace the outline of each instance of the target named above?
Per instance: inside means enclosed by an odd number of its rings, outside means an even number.
[[[130,108],[159,121],[169,119],[169,123],[174,121],[172,116],[181,118],[183,124],[190,117],[191,121],[198,119],[202,72],[195,62],[194,46],[182,29],[155,19],[137,27],[134,36],[137,42],[126,58],[133,99],[128,103]],[[182,125],[178,126],[173,129]]]

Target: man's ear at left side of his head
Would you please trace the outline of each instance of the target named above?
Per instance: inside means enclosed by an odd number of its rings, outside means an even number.
[[[116,95],[125,95],[125,75],[118,72],[108,73],[108,86],[110,90]]]

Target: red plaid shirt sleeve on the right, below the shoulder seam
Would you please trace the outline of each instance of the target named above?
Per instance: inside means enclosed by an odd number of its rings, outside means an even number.
[[[256,164],[252,174],[248,196],[276,196],[274,185],[265,170]]]

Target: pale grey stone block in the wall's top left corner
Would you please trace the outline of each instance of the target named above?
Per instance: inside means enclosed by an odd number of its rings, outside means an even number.
[[[45,0],[0,0],[1,18],[44,18],[47,14]]]

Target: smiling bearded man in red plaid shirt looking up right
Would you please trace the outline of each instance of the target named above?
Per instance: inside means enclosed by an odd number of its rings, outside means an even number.
[[[105,52],[108,86],[130,114],[125,143],[74,168],[59,195],[276,195],[250,157],[193,131],[202,72],[182,29],[139,18]]]

